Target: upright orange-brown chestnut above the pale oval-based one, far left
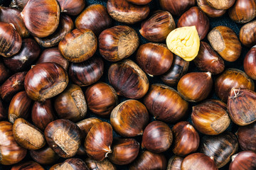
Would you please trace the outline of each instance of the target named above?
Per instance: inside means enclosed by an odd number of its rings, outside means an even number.
[[[11,123],[17,118],[28,118],[31,111],[31,98],[28,97],[26,91],[20,91],[11,99],[8,109],[8,119]]]

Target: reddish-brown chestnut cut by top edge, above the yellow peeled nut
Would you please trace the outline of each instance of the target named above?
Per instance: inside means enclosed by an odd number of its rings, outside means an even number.
[[[160,0],[160,6],[166,11],[169,11],[174,16],[181,16],[182,13],[187,11],[191,6],[195,6],[196,0]]]

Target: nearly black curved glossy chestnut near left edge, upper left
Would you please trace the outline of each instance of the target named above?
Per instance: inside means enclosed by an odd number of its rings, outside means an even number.
[[[26,38],[22,40],[21,50],[12,57],[4,57],[4,64],[12,72],[28,70],[31,64],[39,57],[41,49],[35,40]]]

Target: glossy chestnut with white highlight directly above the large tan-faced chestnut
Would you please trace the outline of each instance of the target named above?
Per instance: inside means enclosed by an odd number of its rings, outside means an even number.
[[[76,28],[87,28],[92,30],[96,36],[100,35],[102,30],[112,26],[112,18],[107,13],[107,8],[101,4],[92,4],[85,8],[75,19]]]

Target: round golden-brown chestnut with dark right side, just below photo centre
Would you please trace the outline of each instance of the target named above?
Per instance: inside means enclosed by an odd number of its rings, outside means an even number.
[[[119,103],[110,115],[114,130],[124,137],[142,135],[149,122],[149,113],[144,104],[136,100]]]

